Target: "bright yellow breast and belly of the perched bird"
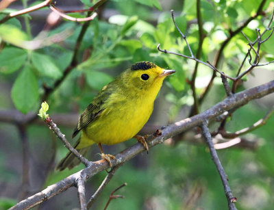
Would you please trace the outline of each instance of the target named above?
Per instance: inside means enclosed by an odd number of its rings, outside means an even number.
[[[153,96],[121,97],[119,94],[117,97],[112,94],[100,117],[83,130],[84,135],[92,142],[101,144],[124,142],[134,137],[149,120],[154,100]]]

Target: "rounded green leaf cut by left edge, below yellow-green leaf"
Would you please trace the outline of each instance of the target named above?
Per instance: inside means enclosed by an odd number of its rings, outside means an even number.
[[[7,47],[0,53],[0,73],[10,74],[21,68],[27,58],[27,52],[15,47]]]

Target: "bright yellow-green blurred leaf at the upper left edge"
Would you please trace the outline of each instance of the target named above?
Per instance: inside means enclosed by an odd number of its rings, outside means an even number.
[[[0,38],[16,46],[22,46],[27,41],[27,34],[14,25],[0,25]]]

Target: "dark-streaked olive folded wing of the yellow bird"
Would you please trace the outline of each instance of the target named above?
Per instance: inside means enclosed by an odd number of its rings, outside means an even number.
[[[93,99],[90,105],[86,107],[83,114],[79,117],[77,127],[73,131],[72,137],[75,137],[79,131],[87,127],[88,124],[95,122],[95,120],[99,118],[100,114],[104,110],[103,104],[108,100],[110,93],[110,88],[103,88],[103,90],[99,92],[95,99]]]

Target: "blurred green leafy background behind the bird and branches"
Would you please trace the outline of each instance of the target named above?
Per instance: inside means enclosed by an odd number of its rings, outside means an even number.
[[[38,1],[16,3],[10,8],[27,8]],[[96,1],[82,3],[57,1],[56,7],[79,10]],[[67,150],[45,124],[32,118],[42,100],[47,99],[51,118],[69,139],[77,116],[106,83],[134,62],[154,62],[177,73],[164,83],[153,116],[142,131],[153,133],[225,98],[219,74],[156,48],[160,43],[161,49],[190,55],[169,10],[175,10],[175,21],[186,35],[193,54],[203,62],[210,61],[226,75],[236,77],[249,49],[240,30],[251,41],[256,40],[255,29],[264,31],[268,27],[273,6],[272,1],[255,0],[115,0],[101,5],[98,17],[89,25],[62,18],[54,22],[52,16],[47,18],[49,8],[10,18],[5,23],[0,21],[0,208],[7,209],[84,168],[81,165],[71,171],[54,170],[55,163]],[[0,20],[10,12],[12,9],[2,10]],[[83,18],[86,14],[72,16]],[[75,53],[83,25],[86,32]],[[266,31],[265,38],[270,34],[271,31]],[[273,44],[274,37],[262,44],[260,55],[264,56],[264,62],[274,59]],[[243,69],[248,66],[246,61]],[[212,86],[208,86],[214,75]],[[242,77],[235,90],[239,92],[270,79],[273,79],[271,64]],[[272,107],[273,95],[253,101],[227,118],[225,128],[233,133],[249,127]],[[260,129],[242,136],[242,144],[218,151],[237,197],[238,209],[273,209],[273,124],[274,119],[270,118]],[[210,131],[218,127],[219,122],[215,122]],[[149,155],[144,153],[127,162],[98,198],[95,209],[103,209],[110,193],[123,183],[127,187],[119,194],[125,198],[112,200],[109,209],[226,209],[221,179],[206,144],[196,133],[199,131],[174,137],[149,150]],[[104,149],[106,153],[119,153],[135,141]],[[99,150],[94,146],[88,159],[99,159],[97,153]],[[95,192],[105,175],[101,172],[88,180],[87,196]],[[76,194],[77,189],[71,188],[36,209],[77,208]]]

